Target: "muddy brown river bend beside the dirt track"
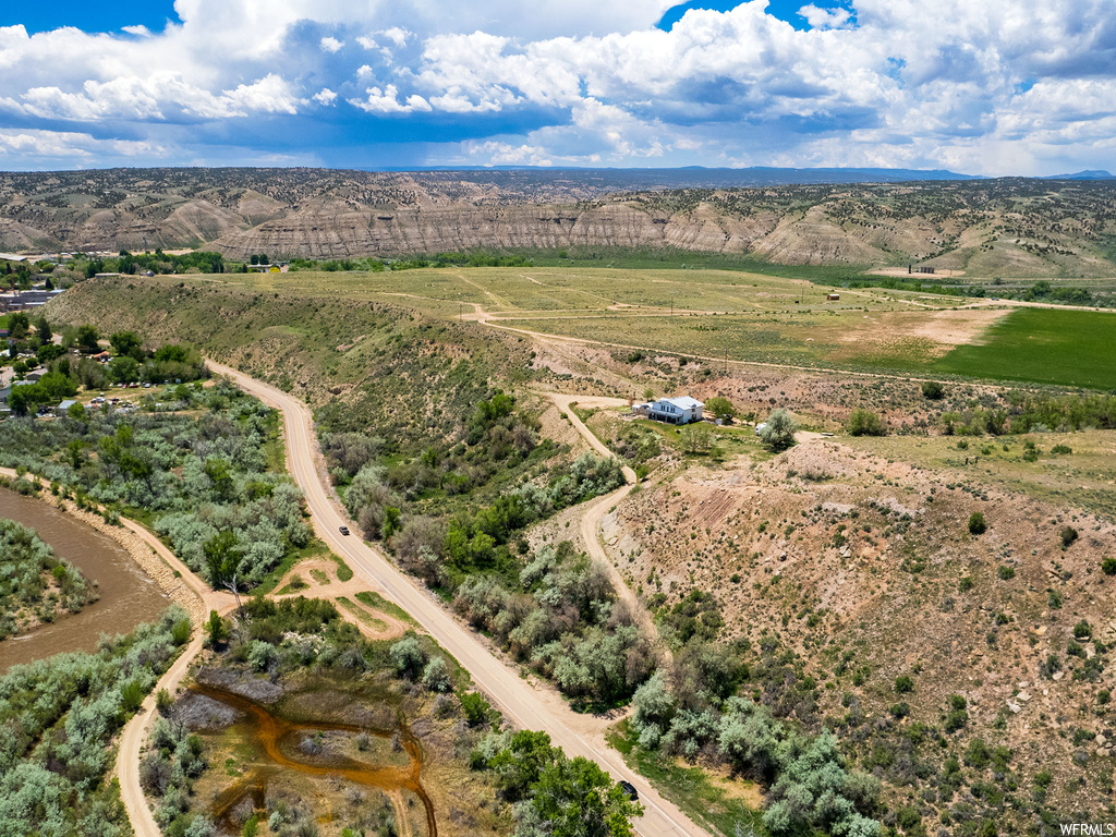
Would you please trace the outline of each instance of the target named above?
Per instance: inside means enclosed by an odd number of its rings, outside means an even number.
[[[58,556],[97,584],[100,598],[80,613],[0,642],[0,673],[64,651],[95,651],[102,634],[125,634],[158,618],[171,604],[124,547],[56,509],[50,494],[45,497],[22,497],[0,488],[0,518],[35,529]]]

